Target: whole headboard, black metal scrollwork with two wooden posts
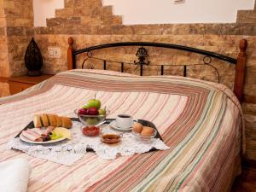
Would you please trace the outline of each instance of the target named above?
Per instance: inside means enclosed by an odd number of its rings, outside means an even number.
[[[85,49],[78,49],[75,50],[73,49],[73,38],[68,39],[68,52],[67,52],[67,61],[68,61],[68,69],[73,69],[76,68],[76,56],[82,53],[87,53],[87,57],[84,59],[82,63],[82,67],[84,67],[84,62],[87,61],[89,58],[94,58],[97,60],[102,61],[102,68],[107,69],[107,62],[110,60],[107,59],[102,59],[102,58],[97,58],[94,57],[92,54],[92,50],[96,49],[107,49],[107,48],[114,48],[114,47],[126,47],[126,46],[137,46],[139,47],[137,49],[137,58],[138,61],[134,62],[122,62],[122,61],[111,61],[111,62],[116,62],[120,64],[121,72],[124,72],[124,64],[130,64],[130,65],[138,65],[140,67],[140,75],[143,75],[143,66],[149,65],[150,61],[147,61],[147,56],[148,56],[148,51],[146,47],[159,47],[159,48],[167,48],[167,49],[178,49],[178,50],[183,50],[183,51],[189,51],[192,53],[204,55],[203,58],[203,63],[202,64],[196,64],[196,65],[207,65],[209,67],[212,67],[216,73],[218,73],[218,69],[214,66],[211,65],[212,58],[217,58],[218,60],[221,61],[228,61],[231,64],[236,65],[236,79],[235,79],[235,86],[234,86],[234,91],[240,92],[239,94],[242,93],[242,85],[243,85],[243,79],[244,79],[244,68],[245,68],[245,63],[246,63],[246,49],[247,49],[247,40],[242,39],[240,43],[240,53],[237,57],[237,59],[231,58],[230,56],[227,55],[220,55],[218,53],[214,53],[211,51],[203,50],[203,49],[196,49],[192,47],[187,47],[183,45],[177,45],[177,44],[162,44],[162,43],[149,43],[149,42],[121,42],[121,43],[113,43],[113,44],[100,44],[92,47],[88,47]],[[150,65],[150,66],[158,66],[160,67],[160,74],[164,75],[164,70],[165,66],[167,65]],[[168,65],[170,66],[170,65]],[[173,66],[173,65],[172,65]],[[190,66],[189,64],[184,64],[184,65],[178,65],[178,66],[183,66],[183,76],[187,76],[187,67]],[[195,64],[193,64],[195,66]],[[219,82],[219,73],[218,73],[218,82]],[[237,88],[236,88],[237,87]],[[237,94],[236,94],[237,96]],[[239,98],[241,96],[238,96]],[[241,98],[240,98],[241,99]]]

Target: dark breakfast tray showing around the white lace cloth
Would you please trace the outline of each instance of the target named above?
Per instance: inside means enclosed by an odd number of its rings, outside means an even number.
[[[80,122],[79,118],[70,118],[70,119],[72,119],[72,121]],[[104,124],[105,125],[110,124],[113,120],[115,120],[115,119],[106,119],[106,122]],[[152,122],[150,122],[148,120],[143,120],[143,119],[138,119],[137,122],[142,124],[143,126],[149,126],[149,127],[154,128],[156,130],[155,138],[159,138],[161,141],[163,141],[162,137],[160,136],[159,131],[156,129],[155,125]],[[28,125],[26,125],[26,127],[22,131],[26,131],[27,129],[32,129],[32,128],[34,128],[34,124],[33,124],[33,122],[30,122]],[[20,134],[22,131],[20,131],[20,133],[15,138],[20,137]],[[159,150],[159,149],[151,148],[148,152],[155,151],[155,150]],[[88,148],[88,147],[86,148],[86,151],[87,152],[95,152],[92,148]]]

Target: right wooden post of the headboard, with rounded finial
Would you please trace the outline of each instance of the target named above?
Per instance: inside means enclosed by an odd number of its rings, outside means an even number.
[[[240,102],[242,102],[243,83],[245,77],[245,69],[247,62],[247,40],[241,39],[239,44],[240,52],[236,62],[236,76],[234,84],[234,93]]]

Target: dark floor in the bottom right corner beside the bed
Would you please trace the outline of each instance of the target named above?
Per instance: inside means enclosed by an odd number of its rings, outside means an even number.
[[[256,167],[243,166],[231,192],[256,192]]]

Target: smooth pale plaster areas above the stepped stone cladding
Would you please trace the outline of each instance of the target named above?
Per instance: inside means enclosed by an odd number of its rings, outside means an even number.
[[[253,9],[254,0],[102,0],[112,5],[114,15],[122,15],[125,25],[163,23],[230,23],[236,22],[239,9]],[[46,26],[46,18],[63,9],[64,0],[33,0],[34,25]]]

